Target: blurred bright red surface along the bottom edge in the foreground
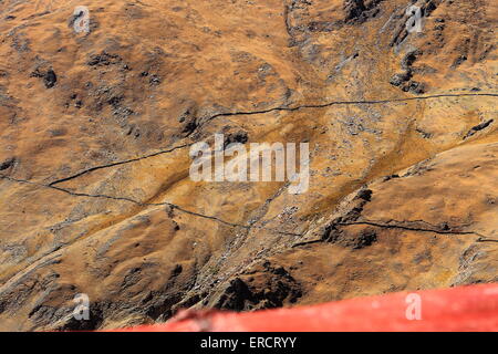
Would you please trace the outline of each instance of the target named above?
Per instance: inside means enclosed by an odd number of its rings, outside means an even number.
[[[126,332],[498,331],[498,284],[256,312],[184,311]]]

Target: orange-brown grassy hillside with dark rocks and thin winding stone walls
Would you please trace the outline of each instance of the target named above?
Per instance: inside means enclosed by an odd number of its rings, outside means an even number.
[[[2,1],[0,330],[497,281],[498,7],[415,4]],[[193,181],[216,133],[308,142],[309,190]]]

